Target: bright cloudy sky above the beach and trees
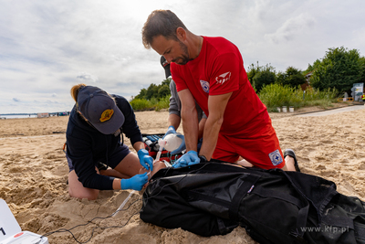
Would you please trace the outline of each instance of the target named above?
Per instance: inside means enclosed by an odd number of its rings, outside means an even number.
[[[341,46],[365,53],[363,0],[0,0],[0,113],[69,111],[80,82],[127,99],[160,84],[160,57],[141,43],[155,9],[231,40],[246,68],[307,69]]]

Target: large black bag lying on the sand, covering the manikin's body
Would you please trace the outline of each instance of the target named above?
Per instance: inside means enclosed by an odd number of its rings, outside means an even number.
[[[209,237],[238,225],[260,243],[365,243],[365,205],[314,175],[201,163],[164,168],[140,217]]]

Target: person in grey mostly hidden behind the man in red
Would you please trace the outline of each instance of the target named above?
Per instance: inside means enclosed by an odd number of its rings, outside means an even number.
[[[162,56],[161,59],[161,65],[163,69],[165,69],[165,76],[166,79],[171,77],[171,71],[170,71],[170,63],[166,61],[166,59]],[[164,136],[170,134],[170,133],[176,133],[176,130],[179,128],[180,122],[181,122],[181,110],[182,110],[182,102],[179,99],[179,95],[177,94],[176,85],[173,80],[170,82],[170,104],[169,104],[169,128]],[[196,111],[198,112],[198,121],[199,121],[199,132],[198,132],[198,151],[200,148],[200,145],[202,145],[203,142],[203,129],[204,124],[206,122],[206,115],[202,111],[202,109],[199,107],[198,104],[196,104]],[[172,151],[172,154],[179,154],[183,150],[185,150],[185,141],[183,135],[178,135],[180,138],[183,139],[183,143],[180,145],[179,148]]]

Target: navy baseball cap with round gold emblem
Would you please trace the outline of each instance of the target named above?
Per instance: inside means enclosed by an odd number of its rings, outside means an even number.
[[[86,86],[78,90],[78,111],[100,133],[111,134],[124,123],[124,114],[105,91]]]

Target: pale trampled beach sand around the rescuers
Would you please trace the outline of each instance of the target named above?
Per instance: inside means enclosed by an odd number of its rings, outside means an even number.
[[[327,116],[296,116],[316,110],[270,113],[281,148],[296,152],[303,173],[334,181],[340,193],[365,200],[365,107]],[[138,111],[136,117],[142,133],[167,129],[167,111]],[[83,225],[71,232],[78,241],[93,235],[89,243],[255,243],[244,228],[203,238],[180,228],[144,223],[138,214],[139,194],[131,196],[126,207],[133,204],[127,210],[89,223],[112,214],[130,191],[102,191],[95,201],[68,196],[68,164],[62,151],[67,123],[68,117],[0,120],[0,198],[23,230],[42,235]],[[130,146],[129,140],[125,142]],[[48,241],[77,243],[69,232],[50,235]]]

